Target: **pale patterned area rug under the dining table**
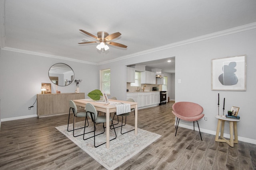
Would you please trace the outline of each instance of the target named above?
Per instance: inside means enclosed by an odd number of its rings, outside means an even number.
[[[118,123],[117,121],[113,121],[114,124]],[[121,125],[121,123],[115,125],[115,127]],[[80,121],[76,123],[76,128],[83,127],[84,121]],[[61,133],[66,135],[68,139],[73,141],[78,147],[88,153],[92,158],[94,158],[97,162],[99,162],[102,166],[104,166],[108,170],[114,170],[118,166],[122,165],[124,162],[132,158],[132,156],[136,155],[142,149],[146,148],[148,145],[156,141],[161,135],[156,133],[152,133],[149,131],[145,131],[143,129],[138,128],[137,136],[135,136],[134,131],[125,133],[121,135],[121,127],[115,128],[116,130],[116,139],[110,141],[110,148],[106,149],[106,144],[101,145],[100,147],[94,147],[94,138],[90,138],[87,140],[83,140],[83,135],[78,137],[73,137],[73,132],[67,131],[67,125],[55,127]],[[73,124],[69,125],[69,130],[73,128]],[[134,129],[134,127],[130,125],[123,126],[122,133]],[[90,132],[93,130],[93,123],[89,121],[89,126],[86,127],[86,132]],[[75,135],[82,134],[84,129],[76,130]],[[96,126],[96,134],[103,132],[102,123]],[[93,136],[92,133],[88,133],[85,137]],[[114,138],[114,130],[110,129],[110,139]],[[96,136],[96,145],[100,143],[104,143],[106,141],[106,131],[102,135]]]

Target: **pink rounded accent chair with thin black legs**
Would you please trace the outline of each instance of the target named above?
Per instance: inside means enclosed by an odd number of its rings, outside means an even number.
[[[176,102],[172,105],[172,109],[173,109],[172,113],[177,117],[177,120],[176,120],[177,127],[175,126],[176,127],[175,136],[177,134],[180,119],[185,121],[193,121],[194,130],[195,130],[194,121],[196,121],[199,129],[201,141],[202,141],[198,120],[204,117],[204,114],[202,114],[202,112],[204,111],[203,107],[200,106],[199,104],[192,103],[192,102]]]

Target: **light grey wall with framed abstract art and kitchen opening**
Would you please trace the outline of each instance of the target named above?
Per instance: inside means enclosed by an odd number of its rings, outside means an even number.
[[[238,136],[241,138],[256,140],[254,131],[256,114],[254,101],[256,101],[256,29],[224,35],[204,41],[181,45],[162,51],[147,53],[111,64],[102,64],[100,68],[111,68],[118,70],[118,75],[111,78],[111,94],[120,98],[126,97],[125,65],[135,64],[156,59],[163,59],[168,56],[175,56],[175,101],[190,101],[200,104],[204,108],[205,117],[208,121],[199,121],[200,129],[208,132],[215,132],[217,127],[218,114],[218,93],[220,102],[226,98],[225,114],[232,106],[240,107],[239,115],[241,120],[238,123]],[[247,55],[247,90],[246,91],[212,91],[211,90],[211,60],[227,56]],[[116,73],[115,73],[116,74]],[[178,84],[178,79],[181,83]],[[114,90],[113,90],[114,89]],[[119,98],[119,97],[118,97]],[[221,104],[220,108],[223,105]],[[221,111],[221,110],[220,110]],[[222,113],[222,112],[221,112]],[[192,125],[181,121],[180,124]],[[193,125],[192,125],[193,126]],[[224,133],[229,134],[228,125]]]

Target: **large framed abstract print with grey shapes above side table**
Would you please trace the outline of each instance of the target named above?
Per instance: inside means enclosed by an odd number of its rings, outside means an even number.
[[[246,91],[246,55],[212,59],[212,90]]]

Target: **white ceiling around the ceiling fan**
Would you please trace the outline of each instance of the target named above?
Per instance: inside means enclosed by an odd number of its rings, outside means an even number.
[[[256,0],[0,0],[1,48],[104,63],[256,22]],[[3,9],[2,7],[0,9]],[[122,35],[102,53],[83,29]],[[168,57],[168,56],[167,56]]]

